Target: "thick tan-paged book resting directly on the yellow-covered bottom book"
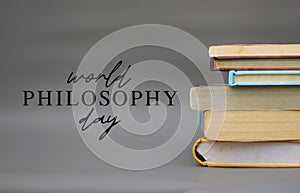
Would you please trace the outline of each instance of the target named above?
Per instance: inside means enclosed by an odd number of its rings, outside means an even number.
[[[300,140],[300,111],[206,111],[203,128],[216,141]]]

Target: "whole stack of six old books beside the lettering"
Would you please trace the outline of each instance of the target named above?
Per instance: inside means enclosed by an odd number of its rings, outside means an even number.
[[[209,54],[228,84],[191,89],[204,130],[194,158],[202,166],[300,167],[300,45],[222,45]],[[212,97],[225,98],[225,108]]]

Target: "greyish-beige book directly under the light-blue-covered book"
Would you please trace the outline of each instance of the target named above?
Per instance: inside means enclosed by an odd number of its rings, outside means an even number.
[[[300,110],[299,86],[198,86],[190,90],[194,110]]]

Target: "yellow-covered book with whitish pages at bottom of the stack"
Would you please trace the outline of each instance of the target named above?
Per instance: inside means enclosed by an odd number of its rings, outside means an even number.
[[[300,167],[299,141],[219,142],[199,138],[192,154],[202,166]]]

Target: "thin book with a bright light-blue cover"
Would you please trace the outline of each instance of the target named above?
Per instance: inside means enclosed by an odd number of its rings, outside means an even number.
[[[228,73],[229,86],[300,85],[300,70],[253,70]]]

